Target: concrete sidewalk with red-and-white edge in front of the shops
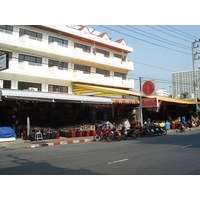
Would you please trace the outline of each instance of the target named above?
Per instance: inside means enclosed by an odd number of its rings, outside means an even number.
[[[192,128],[192,130],[200,129],[200,127]],[[176,132],[177,129],[167,130],[167,134]],[[22,140],[21,138],[16,138],[15,141],[12,142],[0,142],[0,148],[37,148],[37,147],[46,147],[46,146],[54,146],[54,145],[64,145],[64,144],[77,144],[83,142],[91,142],[93,141],[94,136],[87,137],[74,137],[74,138],[66,138],[60,137],[60,139],[48,139],[48,140],[39,140],[39,141],[30,141],[30,140]]]

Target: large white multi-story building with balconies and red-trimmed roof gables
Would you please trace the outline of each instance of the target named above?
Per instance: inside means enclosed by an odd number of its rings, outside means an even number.
[[[0,72],[0,88],[83,95],[90,91],[80,84],[132,89],[131,52],[124,39],[88,26],[1,25],[0,54],[9,53],[9,69]]]

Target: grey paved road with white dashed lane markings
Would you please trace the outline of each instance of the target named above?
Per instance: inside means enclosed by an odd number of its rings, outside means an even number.
[[[200,174],[200,131],[127,141],[0,149],[0,174]]]

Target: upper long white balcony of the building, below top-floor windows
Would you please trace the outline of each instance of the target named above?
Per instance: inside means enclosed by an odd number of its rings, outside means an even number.
[[[58,43],[48,43],[45,37],[41,40],[28,35],[23,35],[19,37],[17,32],[6,32],[0,30],[0,45],[2,47],[11,48],[17,47],[18,51],[27,52],[29,54],[33,53],[43,55],[47,53],[51,56],[60,56],[62,59],[66,57],[73,60],[74,62],[81,62],[83,65],[88,65],[92,63],[93,65],[109,68],[119,68],[128,71],[134,70],[134,64],[130,61],[121,62],[121,59],[113,57],[112,51],[110,51],[110,57],[104,57],[104,55],[97,53],[94,55],[92,52],[84,52],[80,48],[74,48],[73,45],[68,45],[67,47],[59,46]],[[54,57],[53,56],[53,57]]]

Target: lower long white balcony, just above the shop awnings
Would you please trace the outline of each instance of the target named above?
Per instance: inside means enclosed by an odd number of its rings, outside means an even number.
[[[9,69],[1,72],[2,76],[9,74],[51,78],[54,80],[66,80],[69,82],[90,83],[96,85],[107,85],[122,88],[134,88],[133,79],[122,79],[116,76],[104,76],[97,73],[84,73],[83,71],[70,68],[59,68],[57,66],[48,67],[47,64],[37,64],[32,62],[18,62],[12,59],[9,62]],[[34,80],[34,78],[33,78]]]

